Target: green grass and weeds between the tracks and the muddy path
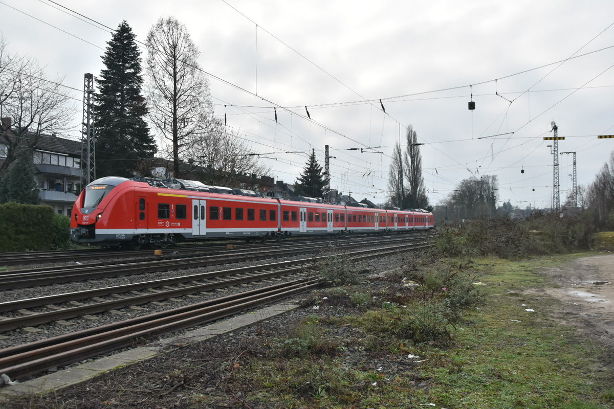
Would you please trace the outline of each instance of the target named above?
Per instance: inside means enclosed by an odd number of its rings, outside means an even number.
[[[519,293],[548,286],[537,271],[573,257],[448,261],[377,291],[324,290],[311,298],[321,316],[275,338],[231,381],[266,408],[607,408],[603,351],[548,317],[556,300]],[[348,312],[327,315],[326,305]]]

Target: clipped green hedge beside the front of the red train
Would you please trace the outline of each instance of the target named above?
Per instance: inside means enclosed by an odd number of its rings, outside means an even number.
[[[0,251],[69,248],[70,219],[45,205],[0,204]]]

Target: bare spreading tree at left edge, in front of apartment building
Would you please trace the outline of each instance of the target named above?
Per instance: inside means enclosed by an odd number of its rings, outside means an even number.
[[[11,120],[10,131],[0,131],[0,143],[6,147],[0,175],[21,151],[33,150],[41,134],[68,128],[74,107],[68,104],[62,80],[49,80],[36,59],[9,53],[0,39],[0,113]]]

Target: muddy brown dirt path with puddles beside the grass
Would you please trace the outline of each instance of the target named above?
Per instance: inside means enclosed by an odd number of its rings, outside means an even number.
[[[614,346],[614,254],[575,259],[546,270],[558,288],[537,291],[556,297],[564,308],[556,318]]]

